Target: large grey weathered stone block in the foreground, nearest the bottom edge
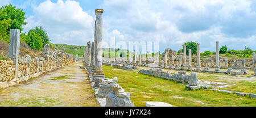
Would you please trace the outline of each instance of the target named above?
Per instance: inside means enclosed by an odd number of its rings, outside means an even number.
[[[106,95],[105,107],[134,107],[134,103],[130,100],[130,93],[127,92],[125,97],[118,97],[114,92],[109,92]]]

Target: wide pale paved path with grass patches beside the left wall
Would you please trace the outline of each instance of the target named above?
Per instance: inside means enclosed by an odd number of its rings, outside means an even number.
[[[81,65],[74,62],[0,90],[0,106],[99,106]]]

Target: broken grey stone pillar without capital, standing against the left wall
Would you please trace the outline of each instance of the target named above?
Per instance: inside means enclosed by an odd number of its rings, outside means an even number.
[[[15,65],[14,78],[18,78],[19,45],[20,45],[20,31],[19,29],[11,29],[8,57],[11,58],[11,60],[13,60]]]

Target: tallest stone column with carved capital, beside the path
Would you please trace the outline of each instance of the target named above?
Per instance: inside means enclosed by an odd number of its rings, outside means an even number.
[[[102,70],[102,13],[103,9],[96,9],[96,35],[95,35],[95,70],[93,72],[94,75],[104,75]]]

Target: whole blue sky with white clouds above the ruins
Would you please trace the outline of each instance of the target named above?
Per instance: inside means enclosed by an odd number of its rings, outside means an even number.
[[[203,50],[256,50],[256,1],[249,0],[0,0],[26,12],[24,32],[42,26],[51,43],[86,45],[93,40],[95,9],[104,9],[104,40],[159,41],[178,50],[188,41]]]

